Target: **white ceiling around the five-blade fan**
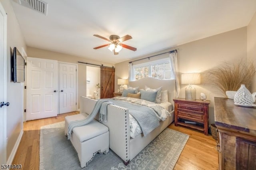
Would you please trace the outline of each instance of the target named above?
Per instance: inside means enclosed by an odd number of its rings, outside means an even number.
[[[119,63],[176,45],[247,26],[256,0],[44,0],[48,14],[12,0],[26,45]],[[94,37],[132,36],[114,55]]]

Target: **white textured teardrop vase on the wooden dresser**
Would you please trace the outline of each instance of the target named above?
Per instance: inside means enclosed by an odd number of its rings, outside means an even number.
[[[250,106],[253,104],[252,94],[248,89],[246,89],[245,85],[241,85],[240,89],[236,92],[234,96],[235,105],[244,105]]]

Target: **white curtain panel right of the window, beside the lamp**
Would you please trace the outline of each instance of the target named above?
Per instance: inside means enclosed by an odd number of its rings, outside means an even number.
[[[176,89],[176,98],[180,97],[180,78],[178,71],[178,59],[177,59],[177,51],[169,53],[170,64],[172,69],[172,75],[175,78],[175,89]]]

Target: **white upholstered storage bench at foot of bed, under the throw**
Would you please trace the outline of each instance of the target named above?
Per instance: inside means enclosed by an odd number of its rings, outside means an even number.
[[[76,118],[78,117],[76,116]],[[95,120],[87,125],[74,128],[70,141],[76,149],[81,168],[86,167],[96,153],[107,154],[109,152],[108,127]]]

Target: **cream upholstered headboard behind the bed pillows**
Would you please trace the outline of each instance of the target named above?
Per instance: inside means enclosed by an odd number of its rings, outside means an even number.
[[[140,89],[145,89],[145,85],[151,89],[156,89],[162,86],[162,90],[168,90],[168,101],[172,103],[174,108],[173,99],[175,98],[175,80],[160,80],[147,77],[137,81],[129,81],[129,86],[131,87],[139,87]]]

